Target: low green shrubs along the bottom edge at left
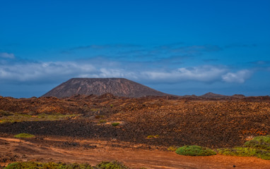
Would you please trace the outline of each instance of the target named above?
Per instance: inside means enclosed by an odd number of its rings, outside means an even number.
[[[11,163],[5,169],[23,169],[23,168],[39,168],[39,169],[93,169],[89,164],[66,164],[66,163],[36,163],[32,161],[28,162],[18,162],[18,163]]]

